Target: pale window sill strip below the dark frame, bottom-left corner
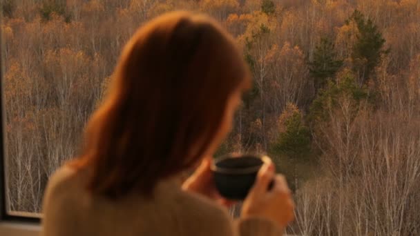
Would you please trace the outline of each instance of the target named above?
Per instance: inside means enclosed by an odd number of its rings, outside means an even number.
[[[39,224],[0,222],[0,235],[4,236],[35,236],[40,230]]]

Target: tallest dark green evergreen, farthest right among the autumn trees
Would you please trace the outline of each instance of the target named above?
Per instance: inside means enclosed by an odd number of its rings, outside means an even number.
[[[361,82],[364,82],[370,77],[374,68],[379,65],[382,55],[388,53],[389,49],[383,50],[385,39],[381,32],[371,19],[365,20],[359,10],[354,10],[346,23],[349,24],[350,21],[354,21],[359,30],[352,52],[354,71],[359,73]]]

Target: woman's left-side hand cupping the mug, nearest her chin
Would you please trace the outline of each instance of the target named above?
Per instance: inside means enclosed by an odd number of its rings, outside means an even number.
[[[213,173],[211,172],[210,166],[211,157],[204,158],[193,175],[184,181],[182,189],[209,197],[223,206],[229,207],[235,204],[234,201],[229,201],[218,193],[213,181]]]

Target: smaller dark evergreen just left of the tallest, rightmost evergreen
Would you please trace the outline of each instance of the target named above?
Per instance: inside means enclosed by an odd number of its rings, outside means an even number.
[[[322,38],[314,51],[314,59],[309,62],[309,72],[315,80],[315,88],[323,88],[327,79],[334,77],[343,66],[343,61],[336,59],[334,44],[330,39]]]

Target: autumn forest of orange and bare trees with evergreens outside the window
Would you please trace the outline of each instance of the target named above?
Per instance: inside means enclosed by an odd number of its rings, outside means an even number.
[[[254,77],[218,150],[267,153],[296,235],[420,235],[419,0],[3,0],[7,201],[39,212],[77,156],[124,43],[171,10],[205,12]]]

